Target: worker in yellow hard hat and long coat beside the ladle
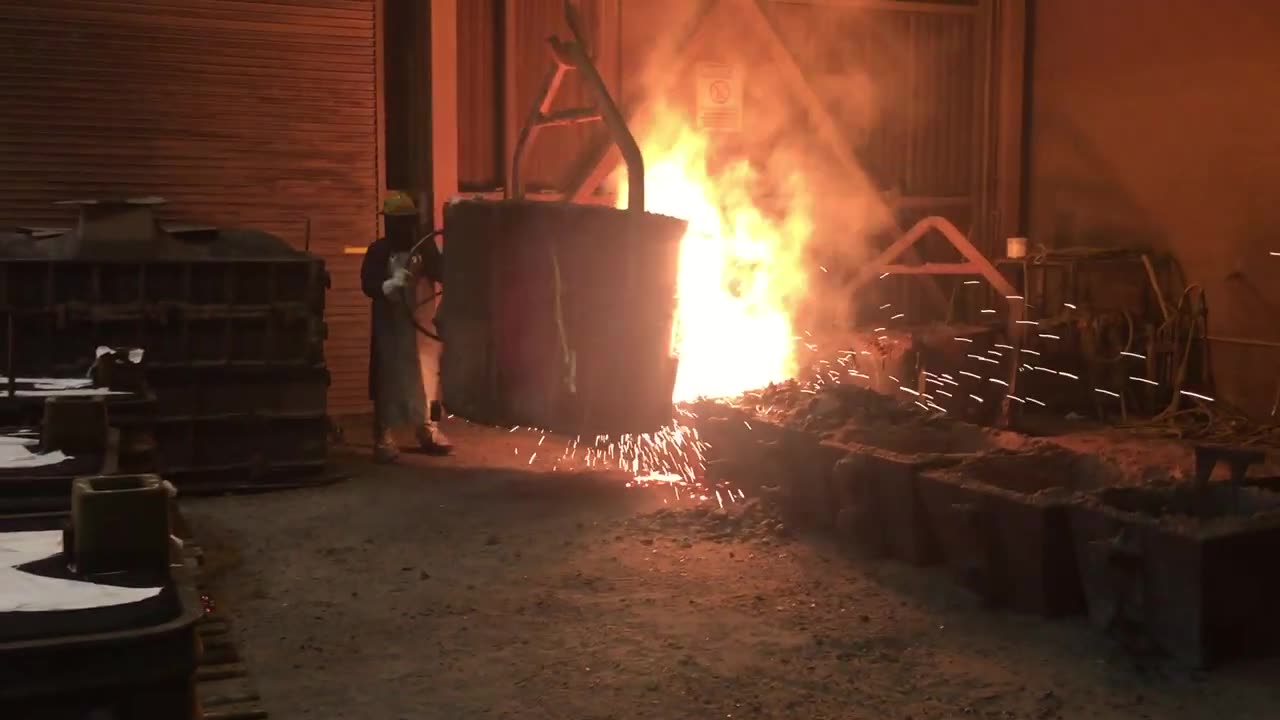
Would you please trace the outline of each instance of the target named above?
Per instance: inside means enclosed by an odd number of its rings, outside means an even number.
[[[448,455],[440,433],[439,357],[435,333],[436,283],[443,258],[434,237],[422,238],[417,210],[403,192],[383,201],[385,237],[375,240],[360,268],[360,284],[372,301],[369,395],[374,401],[374,459],[393,462],[399,451],[392,430],[413,428],[419,446]]]

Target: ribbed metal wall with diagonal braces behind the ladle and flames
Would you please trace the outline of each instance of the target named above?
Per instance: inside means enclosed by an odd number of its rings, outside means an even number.
[[[644,78],[658,56],[689,60],[684,68],[668,67],[677,91],[691,99],[694,63],[754,54],[763,61],[753,73],[777,73],[769,82],[787,86],[768,104],[820,105],[841,124],[841,142],[877,187],[901,196],[905,215],[938,213],[960,227],[973,225],[984,202],[991,140],[984,129],[992,3],[762,5],[765,28],[744,20],[739,0],[580,3],[596,63],[625,110],[640,105]],[[515,138],[552,67],[545,38],[567,37],[562,0],[476,0],[460,3],[458,13],[458,179],[463,191],[493,192],[506,184]],[[823,42],[814,41],[819,33]],[[785,79],[774,42],[794,58],[804,82]],[[762,79],[748,76],[744,85]],[[558,106],[568,108],[584,105],[586,95],[571,76],[561,97]],[[765,114],[750,99],[745,105],[744,123]],[[525,165],[526,187],[548,196],[564,190],[602,137],[595,127],[548,129]]]

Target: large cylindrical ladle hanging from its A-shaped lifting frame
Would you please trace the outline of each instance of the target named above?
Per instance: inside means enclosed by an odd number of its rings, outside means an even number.
[[[445,205],[448,261],[439,325],[452,413],[585,438],[658,430],[672,419],[671,350],[684,220],[644,211],[644,158],[573,37],[548,40],[554,67],[520,132],[500,201]],[[553,111],[570,70],[595,108]],[[529,146],[544,128],[604,122],[626,161],[627,209],[525,199]]]

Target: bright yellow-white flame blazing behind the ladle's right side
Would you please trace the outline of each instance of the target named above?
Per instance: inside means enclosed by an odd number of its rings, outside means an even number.
[[[708,168],[709,137],[672,110],[637,138],[645,158],[645,209],[689,222],[680,246],[675,400],[731,397],[795,375],[792,299],[806,274],[808,197],[795,177],[768,178],[778,206],[756,204],[765,179],[745,160]],[[626,205],[626,179],[618,206]]]

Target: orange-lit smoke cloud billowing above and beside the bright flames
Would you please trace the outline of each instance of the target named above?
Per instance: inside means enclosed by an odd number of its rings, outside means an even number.
[[[855,273],[895,228],[886,202],[891,187],[877,187],[861,160],[852,169],[840,161],[840,152],[818,133],[805,95],[817,96],[838,126],[844,150],[858,159],[876,128],[899,122],[896,108],[905,99],[895,95],[893,76],[900,72],[895,68],[908,63],[867,10],[771,3],[773,23],[765,26],[751,15],[751,4],[754,0],[722,0],[700,23],[699,3],[644,4],[645,14],[663,13],[660,23],[650,17],[645,26],[673,29],[657,40],[643,72],[627,70],[626,95],[645,99],[632,131],[646,151],[655,145],[677,145],[681,133],[701,133],[714,184],[733,188],[727,195],[749,195],[750,205],[780,231],[781,247],[772,261],[799,274],[776,277],[772,284],[790,310],[794,328],[840,334],[850,323]],[[626,12],[640,10],[634,6],[628,4]],[[686,41],[695,23],[701,29]],[[785,50],[780,53],[776,42]],[[795,58],[809,90],[785,72],[782,53]],[[698,129],[699,61],[740,69],[740,131]],[[649,184],[653,182],[650,177]],[[718,200],[724,213],[741,211],[742,197]]]

